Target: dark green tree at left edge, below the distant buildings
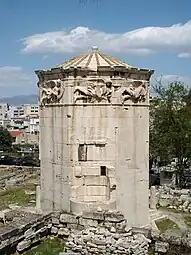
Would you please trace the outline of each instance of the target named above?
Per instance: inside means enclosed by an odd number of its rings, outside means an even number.
[[[0,150],[10,151],[12,147],[13,138],[9,131],[0,126]]]

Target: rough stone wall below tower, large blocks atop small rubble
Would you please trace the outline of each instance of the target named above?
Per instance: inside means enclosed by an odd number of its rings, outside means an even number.
[[[146,255],[150,243],[143,234],[132,233],[121,212],[110,210],[52,215],[51,234],[67,238],[68,254]]]

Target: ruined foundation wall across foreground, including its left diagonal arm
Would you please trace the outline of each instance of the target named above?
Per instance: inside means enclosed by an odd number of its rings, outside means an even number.
[[[16,216],[18,212],[12,214]],[[10,214],[5,214],[5,218],[10,220]],[[67,250],[80,254],[148,254],[150,240],[144,234],[133,233],[127,225],[124,216],[116,211],[80,216],[62,212],[22,213],[14,224],[0,228],[0,253],[14,252],[14,248],[23,252],[51,235],[65,239]]]

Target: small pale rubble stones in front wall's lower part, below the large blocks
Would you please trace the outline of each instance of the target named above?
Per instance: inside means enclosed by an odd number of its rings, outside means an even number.
[[[72,233],[66,247],[81,254],[148,254],[150,240],[143,234],[111,233],[105,228],[89,228]],[[69,253],[70,254],[70,253]]]

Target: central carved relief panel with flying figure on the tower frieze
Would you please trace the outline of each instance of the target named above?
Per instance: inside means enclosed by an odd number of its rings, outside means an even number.
[[[78,84],[74,88],[74,103],[77,100],[85,100],[88,103],[111,102],[113,86],[110,80],[102,82],[87,81],[84,85]]]

